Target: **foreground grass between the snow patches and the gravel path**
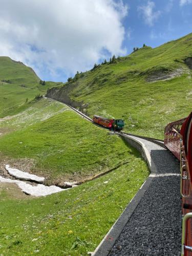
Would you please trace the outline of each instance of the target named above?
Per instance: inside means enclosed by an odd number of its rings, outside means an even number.
[[[93,251],[148,175],[140,154],[127,150],[129,164],[58,194],[18,200],[3,189],[0,253],[74,256]]]

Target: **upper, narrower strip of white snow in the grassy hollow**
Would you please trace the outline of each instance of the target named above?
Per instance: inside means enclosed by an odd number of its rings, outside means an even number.
[[[45,180],[44,177],[38,177],[34,174],[22,172],[22,170],[10,168],[8,164],[6,164],[5,168],[11,176],[20,180],[31,180],[31,181],[36,181],[38,183],[42,183]]]

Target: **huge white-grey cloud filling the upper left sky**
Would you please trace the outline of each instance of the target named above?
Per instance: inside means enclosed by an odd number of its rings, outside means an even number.
[[[56,78],[126,54],[122,0],[1,0],[0,55]]]

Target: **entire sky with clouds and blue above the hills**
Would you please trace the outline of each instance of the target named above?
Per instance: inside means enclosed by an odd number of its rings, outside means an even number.
[[[0,0],[0,56],[67,81],[112,55],[192,33],[192,0]]]

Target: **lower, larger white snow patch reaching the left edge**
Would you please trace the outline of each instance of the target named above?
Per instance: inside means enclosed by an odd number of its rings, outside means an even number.
[[[11,179],[6,179],[0,176],[0,182],[3,183],[15,183],[18,185],[20,189],[27,195],[31,195],[34,197],[41,197],[41,196],[48,196],[63,190],[67,189],[62,189],[57,186],[45,186],[42,184],[38,184],[36,186],[32,186],[24,181],[19,181],[19,180],[11,180]]]

